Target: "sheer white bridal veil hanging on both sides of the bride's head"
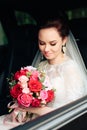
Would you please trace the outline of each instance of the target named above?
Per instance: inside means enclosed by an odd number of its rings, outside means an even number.
[[[78,48],[78,45],[76,43],[76,40],[70,31],[69,36],[68,36],[68,41],[66,43],[66,52],[65,52],[71,59],[73,59],[79,66],[79,70],[81,71],[81,76],[84,80],[85,84],[85,92],[87,93],[87,69],[85,66],[85,63],[83,61],[83,58],[81,56],[80,50]],[[38,64],[42,61],[42,55],[40,51],[38,50],[36,53],[36,56],[33,60],[32,65],[37,67]]]

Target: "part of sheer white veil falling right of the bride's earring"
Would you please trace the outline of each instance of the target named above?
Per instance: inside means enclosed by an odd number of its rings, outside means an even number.
[[[71,32],[69,33],[68,41],[66,44],[66,54],[68,56],[70,56],[79,65],[81,73],[86,78],[87,77],[87,69],[86,69],[85,63],[83,61],[83,58],[81,56],[78,45],[76,43],[76,40]]]

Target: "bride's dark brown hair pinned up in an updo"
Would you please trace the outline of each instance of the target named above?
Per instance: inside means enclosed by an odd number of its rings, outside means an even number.
[[[62,38],[68,36],[69,34],[68,19],[61,13],[59,13],[56,17],[50,16],[47,19],[44,19],[39,25],[39,30],[51,27],[55,27]]]

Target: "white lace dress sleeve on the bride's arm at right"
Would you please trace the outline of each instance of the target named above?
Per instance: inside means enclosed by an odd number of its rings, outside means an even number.
[[[76,100],[86,94],[84,79],[75,63],[68,64],[63,75],[67,100]]]

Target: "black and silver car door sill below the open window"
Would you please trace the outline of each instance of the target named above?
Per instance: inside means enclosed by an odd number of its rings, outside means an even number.
[[[68,105],[40,116],[12,130],[51,130],[59,129],[87,113],[87,96],[84,96]]]

